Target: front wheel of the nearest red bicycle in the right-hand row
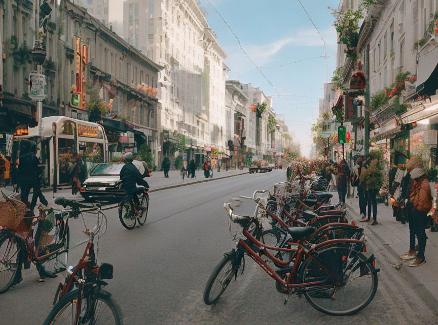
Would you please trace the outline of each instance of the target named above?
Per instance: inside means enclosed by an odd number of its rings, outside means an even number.
[[[222,261],[214,268],[204,289],[204,303],[214,304],[221,298],[225,289],[230,284],[234,275],[233,260],[230,256],[225,256]]]

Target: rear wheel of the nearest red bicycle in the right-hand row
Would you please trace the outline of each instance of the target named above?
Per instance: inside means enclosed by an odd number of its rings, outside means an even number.
[[[313,287],[313,291],[304,293],[307,302],[313,308],[333,316],[352,315],[367,307],[373,300],[377,291],[377,273],[371,273],[370,267],[352,250],[351,244],[322,247],[314,257],[340,281],[330,280],[329,275],[311,258],[307,259],[300,269],[301,283],[333,283],[330,288]]]

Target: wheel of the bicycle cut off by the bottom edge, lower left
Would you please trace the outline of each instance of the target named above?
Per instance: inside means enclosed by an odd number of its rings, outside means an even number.
[[[105,291],[100,291],[97,294],[93,313],[88,315],[87,319],[85,312],[88,307],[88,300],[82,297],[81,314],[79,315],[81,324],[108,324],[108,325],[123,325],[122,313],[119,306],[109,297]],[[65,295],[52,309],[50,314],[44,321],[44,325],[67,325],[74,324],[76,316],[76,304],[78,302],[78,290],[72,290]]]

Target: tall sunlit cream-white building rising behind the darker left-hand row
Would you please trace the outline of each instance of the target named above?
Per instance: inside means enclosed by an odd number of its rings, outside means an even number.
[[[225,150],[227,54],[202,8],[194,0],[126,0],[123,5],[125,39],[164,67],[158,85],[162,155],[172,160],[169,148],[183,138],[198,163],[205,147]]]

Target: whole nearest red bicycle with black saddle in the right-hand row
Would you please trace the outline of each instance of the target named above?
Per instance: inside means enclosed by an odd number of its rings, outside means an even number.
[[[259,204],[259,203],[258,203]],[[244,255],[251,257],[276,281],[279,293],[304,295],[316,310],[329,315],[351,315],[362,310],[373,300],[377,291],[375,258],[364,253],[362,240],[334,239],[311,245],[306,238],[314,233],[312,227],[288,228],[294,243],[289,247],[272,247],[259,241],[263,229],[257,214],[233,214],[230,204],[224,204],[229,222],[243,229],[237,236],[237,248],[224,253],[224,258],[213,270],[204,290],[204,303],[215,303],[244,270]],[[282,261],[271,251],[285,252],[290,259]],[[272,269],[264,258],[274,263]],[[287,298],[284,303],[287,302]]]

